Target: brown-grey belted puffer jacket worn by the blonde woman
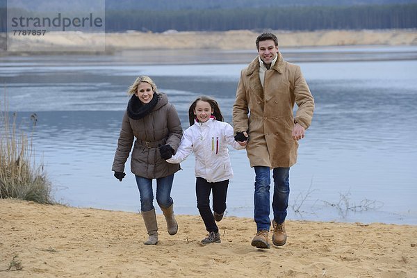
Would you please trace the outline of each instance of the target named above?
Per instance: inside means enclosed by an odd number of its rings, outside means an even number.
[[[170,164],[161,158],[158,150],[158,145],[169,144],[177,152],[182,137],[177,110],[168,102],[167,95],[158,93],[154,97],[158,97],[158,102],[145,117],[133,120],[129,117],[132,113],[128,113],[127,110],[124,113],[113,171],[124,172],[124,163],[129,157],[135,138],[131,155],[133,174],[147,179],[157,179],[174,174],[180,169],[179,164]],[[130,103],[127,109],[132,109]]]

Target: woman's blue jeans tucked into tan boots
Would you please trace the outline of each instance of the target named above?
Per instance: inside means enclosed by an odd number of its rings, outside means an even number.
[[[152,211],[154,209],[152,179],[135,177],[139,188],[140,211]],[[174,174],[156,179],[156,202],[161,208],[169,208],[174,203],[171,198],[172,181],[174,181]]]

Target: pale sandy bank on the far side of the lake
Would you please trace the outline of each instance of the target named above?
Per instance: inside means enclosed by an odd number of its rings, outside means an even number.
[[[416,29],[390,30],[326,30],[326,31],[271,31],[279,40],[280,47],[324,47],[341,45],[416,45]],[[11,35],[8,52],[15,51],[92,51],[108,54],[124,50],[145,49],[250,49],[261,32],[238,30],[224,32],[177,32],[164,33],[82,33],[47,32],[45,35]],[[5,36],[0,36],[0,44]],[[1,51],[0,51],[1,54]],[[3,54],[7,52],[3,51]]]

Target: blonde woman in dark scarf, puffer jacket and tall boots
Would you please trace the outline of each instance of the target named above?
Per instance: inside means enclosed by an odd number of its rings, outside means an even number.
[[[117,150],[112,170],[119,181],[125,176],[126,163],[133,140],[131,172],[136,176],[140,194],[140,211],[149,238],[147,245],[158,243],[158,224],[154,208],[152,179],[156,179],[156,202],[161,207],[170,235],[177,234],[178,224],[174,218],[171,195],[174,173],[179,164],[170,164],[165,159],[176,152],[182,137],[178,113],[170,104],[167,95],[157,92],[149,76],[139,76],[128,91],[131,95],[123,116]]]

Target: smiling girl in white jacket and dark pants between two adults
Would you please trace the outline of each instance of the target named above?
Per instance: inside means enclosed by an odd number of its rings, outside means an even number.
[[[226,210],[227,186],[233,177],[227,145],[244,149],[247,141],[234,140],[233,127],[223,122],[219,105],[214,99],[198,97],[191,104],[188,117],[190,127],[184,131],[177,153],[167,162],[180,163],[194,152],[197,208],[209,233],[202,244],[220,243],[215,221],[222,220]],[[214,215],[210,208],[211,192]]]

